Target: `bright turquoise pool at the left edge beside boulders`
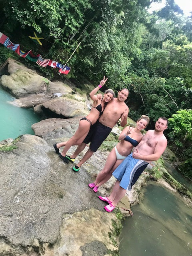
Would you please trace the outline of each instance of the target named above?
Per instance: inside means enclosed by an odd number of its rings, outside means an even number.
[[[31,125],[40,121],[32,109],[18,108],[9,103],[14,98],[0,86],[0,141],[21,134],[34,134]]]

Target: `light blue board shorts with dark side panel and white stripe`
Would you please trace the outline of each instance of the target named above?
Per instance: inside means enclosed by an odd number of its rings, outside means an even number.
[[[113,176],[120,181],[120,186],[126,190],[131,190],[139,176],[147,167],[144,160],[135,159],[132,153],[114,170]]]

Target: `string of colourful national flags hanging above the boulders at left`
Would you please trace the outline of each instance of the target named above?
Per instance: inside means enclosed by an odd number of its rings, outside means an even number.
[[[36,36],[36,35],[35,35]],[[59,68],[60,74],[68,74],[70,72],[70,67],[60,64],[55,60],[44,59],[40,54],[34,55],[32,50],[22,51],[20,49],[20,44],[13,44],[8,36],[4,35],[0,32],[0,43],[3,44],[6,48],[16,52],[22,58],[27,58],[30,61],[36,62],[39,66],[46,68],[46,66],[50,66],[52,68]]]

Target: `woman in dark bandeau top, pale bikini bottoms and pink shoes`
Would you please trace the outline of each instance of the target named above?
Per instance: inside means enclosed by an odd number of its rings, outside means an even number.
[[[142,139],[141,130],[146,128],[149,123],[149,117],[142,115],[136,122],[136,127],[126,126],[118,138],[120,142],[112,149],[104,168],[97,175],[96,180],[89,184],[94,192],[98,191],[98,187],[107,182],[112,176],[112,172],[120,165],[120,163],[130,154],[131,150],[136,147]],[[129,136],[128,136],[129,134]]]

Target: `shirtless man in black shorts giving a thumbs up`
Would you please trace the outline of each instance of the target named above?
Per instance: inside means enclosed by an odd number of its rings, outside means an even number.
[[[118,92],[117,98],[113,98],[110,102],[108,102],[103,114],[90,128],[90,131],[83,143],[77,147],[76,151],[71,156],[68,156],[68,159],[70,158],[71,162],[74,162],[76,156],[78,156],[78,154],[84,150],[86,144],[91,142],[89,149],[82,160],[73,167],[75,172],[78,172],[82,164],[84,164],[84,162],[86,162],[92,156],[92,154],[98,150],[102,142],[107,138],[112,128],[120,118],[120,124],[122,127],[127,124],[129,108],[124,101],[127,99],[128,94],[128,89],[122,89]]]

